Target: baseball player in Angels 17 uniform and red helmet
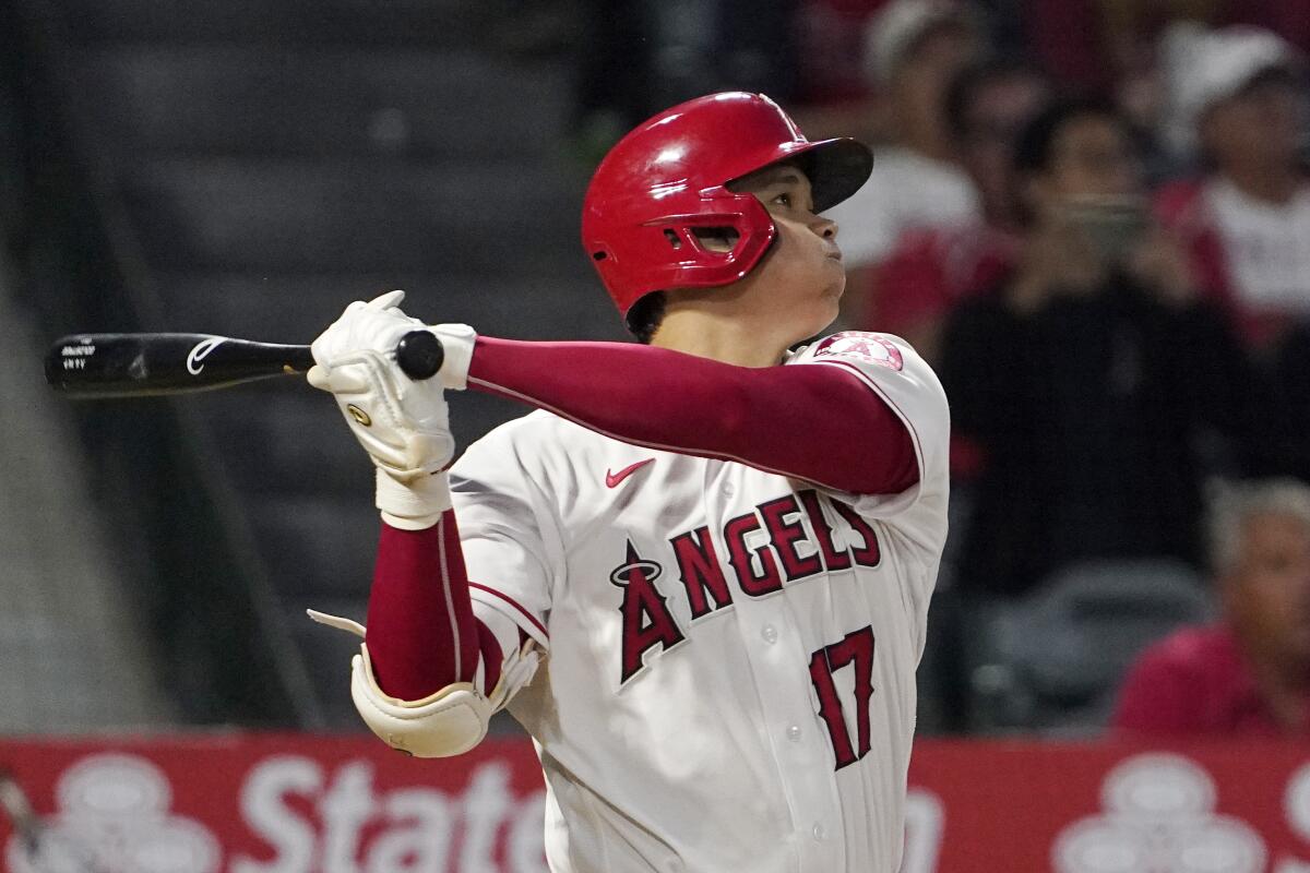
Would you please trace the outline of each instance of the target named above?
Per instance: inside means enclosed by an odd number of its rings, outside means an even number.
[[[384,522],[352,699],[424,757],[507,708],[557,873],[900,864],[946,398],[896,336],[790,351],[837,315],[823,212],[871,162],[768,97],[702,97],[586,195],[587,257],[639,343],[436,325],[445,363],[413,382],[392,349],[419,322],[392,292],[313,344]],[[444,391],[465,389],[537,408],[447,472]]]

